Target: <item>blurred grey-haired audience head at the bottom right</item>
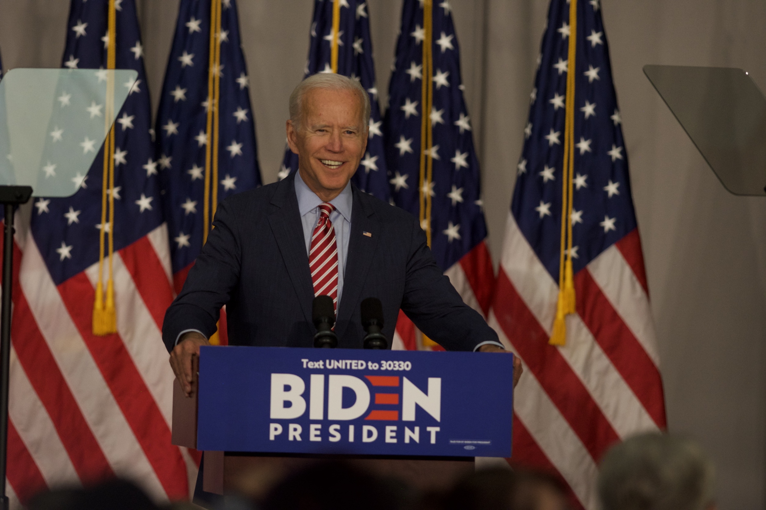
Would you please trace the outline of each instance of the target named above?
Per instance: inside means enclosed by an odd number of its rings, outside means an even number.
[[[604,510],[708,510],[713,466],[686,437],[640,434],[612,447],[601,462]]]

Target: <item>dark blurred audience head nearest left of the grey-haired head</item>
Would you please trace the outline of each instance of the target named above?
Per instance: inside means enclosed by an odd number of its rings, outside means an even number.
[[[466,476],[444,499],[445,510],[565,510],[561,483],[545,473],[485,469]]]

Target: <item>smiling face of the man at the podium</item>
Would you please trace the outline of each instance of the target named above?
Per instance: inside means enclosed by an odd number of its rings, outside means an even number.
[[[311,89],[303,96],[300,129],[287,121],[287,143],[300,177],[324,201],[349,183],[367,147],[364,105],[351,90]]]

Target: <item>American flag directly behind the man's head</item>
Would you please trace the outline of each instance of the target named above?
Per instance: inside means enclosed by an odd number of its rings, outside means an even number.
[[[360,0],[314,0],[311,23],[309,59],[303,73],[306,78],[316,73],[332,73],[333,8],[338,4],[338,60],[335,72],[359,80],[370,97],[372,111],[365,157],[352,177],[352,182],[362,191],[381,200],[391,197],[388,188],[388,170],[381,111],[378,106],[378,86],[375,84],[375,65],[372,61],[372,39],[367,2]],[[285,148],[279,178],[284,179],[298,170],[298,155]]]

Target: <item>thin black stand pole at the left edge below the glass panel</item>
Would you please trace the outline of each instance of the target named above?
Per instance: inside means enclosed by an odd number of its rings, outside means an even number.
[[[0,313],[0,508],[8,510],[5,469],[8,460],[8,365],[11,359],[11,286],[13,284],[13,204],[5,203],[2,257],[2,313]]]

